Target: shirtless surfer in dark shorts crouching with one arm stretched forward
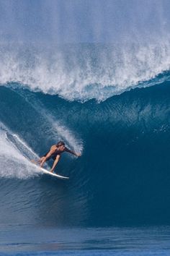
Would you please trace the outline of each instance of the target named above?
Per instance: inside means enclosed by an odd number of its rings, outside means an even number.
[[[76,156],[81,156],[80,153],[73,152],[73,151],[69,150],[68,148],[66,148],[65,143],[63,141],[59,141],[56,145],[53,145],[50,148],[48,153],[43,155],[42,158],[40,158],[38,160],[38,163],[42,167],[46,161],[48,161],[48,160],[50,160],[50,158],[52,158],[54,160],[54,163],[53,163],[53,167],[50,169],[50,171],[53,172],[55,170],[55,167],[58,164],[58,161],[61,159],[61,154],[64,152],[68,152],[68,153],[71,153]]]

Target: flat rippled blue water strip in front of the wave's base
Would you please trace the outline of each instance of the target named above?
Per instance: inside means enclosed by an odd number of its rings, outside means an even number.
[[[169,226],[1,226],[1,255],[169,255]]]

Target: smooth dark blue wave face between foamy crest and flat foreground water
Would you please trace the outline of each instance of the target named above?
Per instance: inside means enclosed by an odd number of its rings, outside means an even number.
[[[169,74],[156,79],[148,82],[155,86],[84,103],[17,82],[1,85],[1,222],[168,224]],[[58,164],[69,181],[44,176],[28,161],[58,140],[82,154],[65,154]]]

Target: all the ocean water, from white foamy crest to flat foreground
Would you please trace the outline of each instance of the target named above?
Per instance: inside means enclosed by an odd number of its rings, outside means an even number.
[[[1,255],[169,255],[169,44],[12,46],[0,51]],[[81,153],[58,163],[67,181],[30,163],[59,140]]]

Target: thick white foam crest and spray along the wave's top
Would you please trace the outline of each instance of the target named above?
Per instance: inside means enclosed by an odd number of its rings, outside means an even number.
[[[27,85],[30,90],[58,94],[70,101],[104,101],[170,67],[168,36],[148,43],[88,47],[80,46],[79,51],[76,46],[64,51],[53,48],[52,52],[30,48],[30,55],[27,49],[21,53],[17,48],[1,47],[0,83],[17,81],[21,88]]]

